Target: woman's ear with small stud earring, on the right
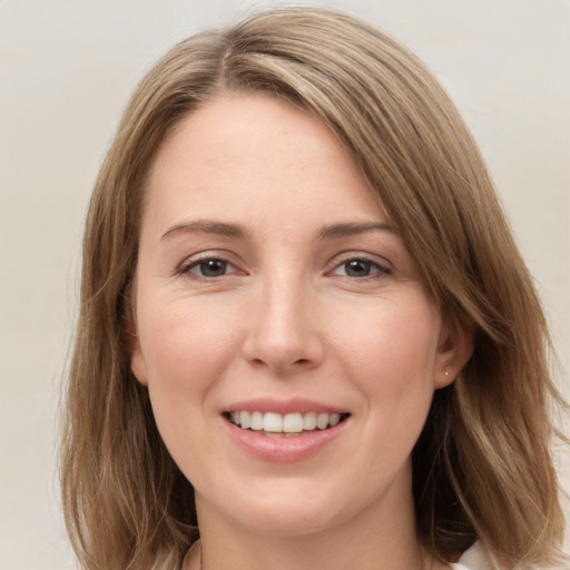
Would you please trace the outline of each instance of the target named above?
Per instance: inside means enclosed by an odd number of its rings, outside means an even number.
[[[433,387],[450,385],[473,354],[473,328],[450,315],[442,318]]]

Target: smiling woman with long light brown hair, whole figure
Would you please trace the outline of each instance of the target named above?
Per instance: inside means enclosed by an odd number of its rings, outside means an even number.
[[[311,8],[197,35],[139,85],[89,210],[62,461],[81,563],[551,562],[548,347],[412,55]]]

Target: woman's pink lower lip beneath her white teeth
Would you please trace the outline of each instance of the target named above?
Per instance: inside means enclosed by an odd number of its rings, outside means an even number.
[[[348,419],[327,430],[278,438],[242,430],[226,419],[223,421],[235,443],[254,458],[273,463],[293,463],[309,459],[331,444],[344,431]]]

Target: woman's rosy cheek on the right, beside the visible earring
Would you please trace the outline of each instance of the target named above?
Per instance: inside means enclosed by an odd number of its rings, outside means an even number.
[[[419,435],[434,391],[439,313],[412,299],[348,323],[338,332],[336,352],[364,396],[368,421],[386,441]]]

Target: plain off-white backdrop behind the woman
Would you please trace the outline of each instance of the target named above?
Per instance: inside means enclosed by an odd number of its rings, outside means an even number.
[[[58,494],[60,383],[77,309],[85,212],[121,109],[174,42],[274,3],[0,0],[0,570],[73,568]],[[450,91],[543,296],[564,386],[570,2],[312,3],[384,28]],[[568,480],[563,459],[561,472]]]

